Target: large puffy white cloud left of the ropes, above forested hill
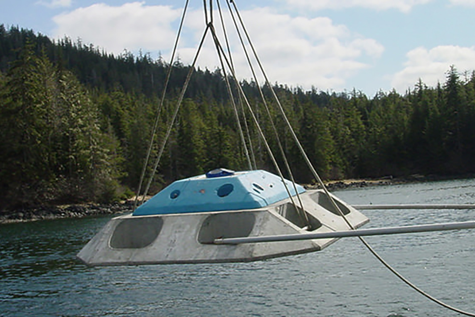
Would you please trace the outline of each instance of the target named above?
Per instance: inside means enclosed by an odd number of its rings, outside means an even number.
[[[108,53],[158,51],[173,43],[176,31],[171,23],[180,15],[181,9],[146,6],[144,2],[121,6],[98,3],[53,17],[57,24],[53,36],[80,38],[83,43],[92,43]]]

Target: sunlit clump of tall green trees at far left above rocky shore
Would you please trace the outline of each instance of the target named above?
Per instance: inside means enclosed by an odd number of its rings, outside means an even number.
[[[120,176],[119,144],[99,129],[89,93],[32,45],[1,86],[1,202],[110,200]]]

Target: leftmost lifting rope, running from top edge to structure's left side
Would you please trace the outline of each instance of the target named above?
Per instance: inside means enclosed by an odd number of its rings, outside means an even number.
[[[145,158],[145,162],[143,163],[142,174],[140,176],[139,187],[137,189],[137,195],[135,196],[134,208],[133,208],[132,211],[135,211],[135,209],[137,208],[137,202],[139,200],[140,191],[142,189],[143,178],[145,177],[145,171],[146,171],[146,168],[148,166],[148,160],[150,159],[150,154],[152,152],[153,141],[154,141],[154,138],[155,138],[155,133],[156,133],[157,128],[158,128],[158,121],[159,121],[159,118],[160,118],[160,112],[161,112],[163,103],[165,101],[165,95],[166,95],[166,92],[167,92],[168,84],[170,82],[170,75],[171,75],[172,69],[173,69],[173,60],[175,59],[175,53],[177,52],[178,42],[179,42],[179,39],[180,39],[180,34],[182,32],[182,29],[183,29],[183,23],[185,21],[185,15],[187,13],[187,8],[188,8],[189,1],[190,0],[186,0],[185,7],[183,9],[182,18],[181,18],[181,21],[180,21],[180,27],[178,28],[177,37],[176,37],[176,40],[175,40],[175,45],[173,47],[172,56],[170,58],[170,65],[169,65],[168,71],[167,71],[165,86],[163,87],[162,98],[160,99],[160,104],[157,108],[157,115],[155,117],[155,123],[153,124],[152,135],[150,136],[150,143],[148,145],[147,156]],[[145,196],[146,196],[146,194],[143,195],[143,197],[145,197]],[[143,199],[142,199],[142,202],[143,202]]]

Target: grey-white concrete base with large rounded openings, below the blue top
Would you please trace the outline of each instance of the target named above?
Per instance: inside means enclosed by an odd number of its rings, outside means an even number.
[[[347,230],[321,191],[300,195],[312,231]],[[361,212],[335,198],[346,219],[360,227],[368,222]],[[332,239],[215,245],[220,237],[268,236],[309,232],[285,199],[262,209],[133,216],[111,219],[81,250],[89,265],[249,262],[320,251]]]

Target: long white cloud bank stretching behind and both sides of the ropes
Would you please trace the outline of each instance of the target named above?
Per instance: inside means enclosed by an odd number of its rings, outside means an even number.
[[[54,17],[55,35],[68,35],[73,40],[81,38],[83,43],[93,43],[110,53],[121,53],[124,49],[161,51],[168,60],[181,14],[181,9],[145,6],[144,2],[117,7],[95,4]],[[242,11],[241,16],[271,82],[338,91],[345,88],[350,76],[370,67],[362,60],[379,58],[384,51],[374,39],[353,34],[327,17],[292,17],[269,8]],[[215,25],[225,47],[217,18]],[[234,62],[239,79],[250,79],[251,73],[238,36],[231,31],[230,19],[226,27],[232,51],[236,53]],[[184,30],[187,36],[181,39],[178,52],[184,64],[192,62],[204,28],[201,9],[187,13]],[[200,53],[198,66],[210,70],[221,68],[211,36]],[[258,80],[262,81],[262,76]]]

